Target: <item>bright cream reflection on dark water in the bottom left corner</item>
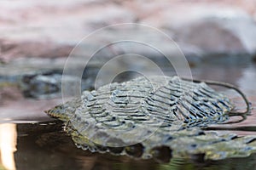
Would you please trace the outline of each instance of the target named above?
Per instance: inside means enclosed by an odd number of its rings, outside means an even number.
[[[0,124],[0,153],[1,163],[6,169],[15,169],[16,125],[11,123]]]

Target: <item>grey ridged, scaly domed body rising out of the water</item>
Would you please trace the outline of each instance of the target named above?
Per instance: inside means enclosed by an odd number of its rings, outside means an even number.
[[[47,113],[66,122],[79,148],[147,158],[160,146],[185,148],[183,139],[201,138],[200,127],[227,121],[232,109],[230,99],[204,82],[138,77],[84,91]]]

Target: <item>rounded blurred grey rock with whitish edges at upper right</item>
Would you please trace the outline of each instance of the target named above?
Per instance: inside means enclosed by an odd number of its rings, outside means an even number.
[[[181,41],[195,44],[206,53],[253,54],[256,51],[256,24],[240,11],[219,10],[203,16],[181,32]]]

